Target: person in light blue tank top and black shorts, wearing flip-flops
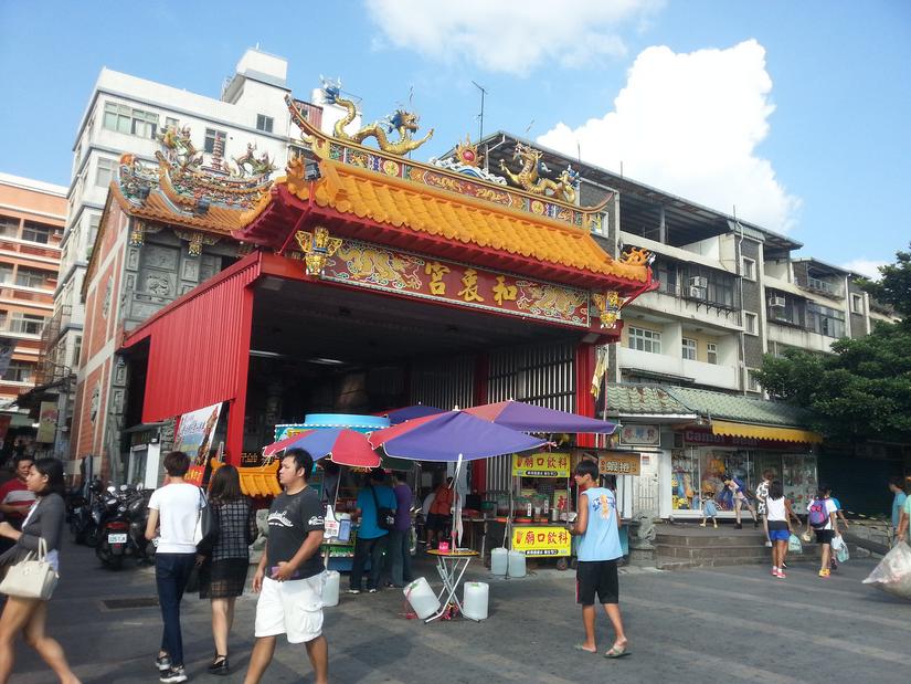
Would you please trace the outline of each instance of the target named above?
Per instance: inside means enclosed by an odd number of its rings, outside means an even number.
[[[582,606],[585,642],[578,651],[597,653],[595,644],[595,594],[614,625],[614,645],[606,657],[628,655],[626,634],[619,614],[619,582],[617,560],[623,556],[619,545],[619,515],[617,499],[611,490],[598,486],[597,463],[582,461],[575,466],[579,486],[579,517],[570,534],[579,535],[575,576],[576,602]]]

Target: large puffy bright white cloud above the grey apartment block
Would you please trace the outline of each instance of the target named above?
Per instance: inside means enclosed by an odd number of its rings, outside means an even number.
[[[774,112],[765,49],[749,40],[727,50],[677,54],[648,48],[629,69],[613,111],[541,145],[775,231],[793,228],[801,200],[788,194],[756,147]]]

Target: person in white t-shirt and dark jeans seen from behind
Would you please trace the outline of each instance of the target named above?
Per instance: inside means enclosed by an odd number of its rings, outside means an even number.
[[[152,492],[149,499],[149,522],[146,537],[151,539],[159,528],[158,549],[155,554],[155,582],[165,630],[161,648],[155,659],[159,681],[186,682],[183,669],[183,639],[180,633],[180,599],[197,561],[193,533],[199,511],[205,506],[205,497],[198,486],[184,482],[190,459],[180,451],[165,456],[168,477],[165,486]]]

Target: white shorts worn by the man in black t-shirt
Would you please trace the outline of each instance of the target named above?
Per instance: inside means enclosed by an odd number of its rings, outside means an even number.
[[[326,572],[278,582],[263,578],[256,601],[256,636],[287,634],[288,643],[313,641],[322,634],[322,587]]]

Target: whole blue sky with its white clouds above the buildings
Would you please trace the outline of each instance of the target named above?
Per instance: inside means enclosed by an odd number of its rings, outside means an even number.
[[[892,261],[911,221],[911,2],[0,2],[0,171],[67,183],[102,66],[218,97],[244,49],[306,98],[413,104],[432,156],[485,130],[562,147],[805,243]],[[619,97],[618,97],[619,96]],[[38,125],[36,125],[38,123]]]

